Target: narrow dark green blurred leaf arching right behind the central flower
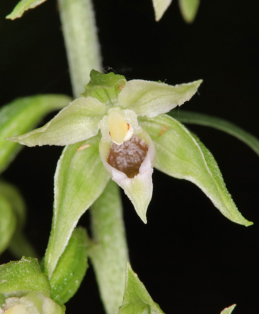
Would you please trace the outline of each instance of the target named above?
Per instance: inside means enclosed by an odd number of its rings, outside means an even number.
[[[241,127],[238,127],[232,122],[227,120],[209,116],[198,112],[193,111],[180,111],[174,112],[174,110],[170,111],[170,116],[179,120],[182,123],[190,123],[190,124],[198,124],[206,127],[214,127],[220,131],[224,131],[230,135],[235,136],[240,139],[240,141],[244,142],[248,145],[253,151],[259,156],[259,140],[252,134],[246,132]]]

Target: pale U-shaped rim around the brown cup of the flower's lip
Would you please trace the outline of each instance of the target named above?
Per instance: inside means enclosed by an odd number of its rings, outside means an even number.
[[[137,176],[139,176],[139,175],[144,174],[153,168],[154,162],[155,162],[155,147],[154,147],[154,143],[153,143],[152,139],[150,138],[148,133],[145,132],[144,130],[143,130],[143,132],[138,133],[137,136],[142,138],[145,141],[145,143],[148,144],[147,155],[139,167],[139,173],[137,175]],[[108,164],[107,154],[108,154],[108,151],[110,149],[110,145],[111,145],[111,143],[104,143],[102,141],[100,141],[100,143],[99,143],[100,156],[101,156],[102,162],[103,162],[106,170],[110,174],[110,176],[113,178],[115,176],[115,173],[116,173],[116,177],[119,175],[119,177],[121,177],[121,179],[129,179],[129,180],[134,179],[134,178],[128,178],[124,172],[117,170],[116,168],[114,168]]]

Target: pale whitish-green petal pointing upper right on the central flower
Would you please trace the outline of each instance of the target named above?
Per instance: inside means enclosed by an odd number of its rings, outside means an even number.
[[[132,80],[118,95],[122,108],[136,112],[138,116],[153,118],[181,106],[197,92],[202,80],[180,85],[168,85],[152,81]]]

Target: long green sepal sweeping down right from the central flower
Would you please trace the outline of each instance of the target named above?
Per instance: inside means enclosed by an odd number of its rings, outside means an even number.
[[[165,114],[149,120],[141,118],[140,122],[156,148],[155,168],[193,182],[225,217],[241,225],[252,225],[236,208],[213,155],[195,135]]]

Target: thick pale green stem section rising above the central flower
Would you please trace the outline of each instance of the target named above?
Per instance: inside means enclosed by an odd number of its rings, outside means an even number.
[[[91,0],[58,0],[73,95],[78,98],[92,69],[101,71],[100,45]]]

